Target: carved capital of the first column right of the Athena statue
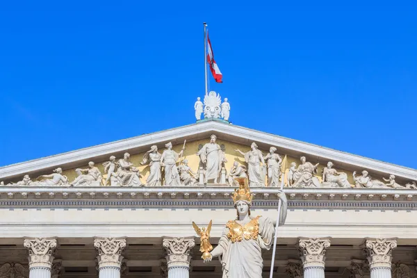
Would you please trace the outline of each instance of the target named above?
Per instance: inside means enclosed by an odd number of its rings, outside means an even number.
[[[304,268],[325,267],[326,248],[330,247],[329,238],[300,238],[298,251]]]

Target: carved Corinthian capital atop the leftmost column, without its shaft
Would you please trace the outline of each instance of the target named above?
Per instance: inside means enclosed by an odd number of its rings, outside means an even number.
[[[29,250],[29,268],[51,268],[56,238],[25,238],[23,245]]]

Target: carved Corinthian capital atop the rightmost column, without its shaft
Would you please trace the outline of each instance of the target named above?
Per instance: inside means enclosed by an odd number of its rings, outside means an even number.
[[[375,238],[366,240],[366,253],[370,268],[391,268],[391,252],[397,247],[395,238]]]

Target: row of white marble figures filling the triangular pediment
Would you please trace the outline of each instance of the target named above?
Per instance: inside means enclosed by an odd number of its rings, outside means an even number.
[[[95,166],[95,162],[90,161],[88,167],[74,170],[76,177],[73,181],[69,181],[63,174],[63,169],[57,167],[53,173],[44,174],[34,180],[29,174],[24,174],[22,180],[6,185],[1,182],[0,186],[238,186],[235,178],[247,177],[251,188],[276,188],[281,183],[281,177],[284,177],[286,187],[290,188],[417,189],[416,181],[400,184],[394,174],[387,174],[379,180],[370,177],[368,171],[363,170],[360,175],[354,171],[349,177],[347,172],[336,170],[332,161],[319,174],[319,163],[310,163],[305,156],[301,156],[298,166],[294,161],[287,165],[286,156],[283,160],[277,154],[277,147],[270,147],[268,154],[263,156],[256,142],[252,142],[247,152],[235,149],[243,156],[244,162],[239,156],[235,156],[233,165],[226,170],[225,146],[218,144],[214,134],[210,136],[209,142],[199,146],[199,165],[194,165],[195,169],[188,163],[190,159],[183,158],[186,142],[178,153],[172,149],[171,142],[165,144],[165,147],[161,154],[158,147],[152,145],[143,155],[140,165],[149,166],[146,181],[142,181],[139,168],[133,165],[130,154],[126,152],[119,160],[110,156],[108,161],[102,163],[104,176]]]

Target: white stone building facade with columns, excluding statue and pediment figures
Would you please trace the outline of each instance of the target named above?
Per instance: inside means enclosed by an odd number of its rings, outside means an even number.
[[[82,167],[111,154],[147,152],[151,145],[193,142],[215,133],[259,149],[277,146],[313,163],[405,183],[417,171],[279,136],[206,121],[69,154],[0,168],[0,179]],[[127,147],[129,146],[129,147]],[[220,152],[220,151],[219,151]],[[101,159],[101,161],[100,161]],[[82,163],[79,161],[83,161]],[[242,162],[243,163],[243,162]],[[97,163],[96,163],[97,164]],[[92,165],[93,166],[93,165]],[[388,174],[388,175],[387,175]],[[385,175],[385,176],[384,176]],[[192,222],[213,220],[215,245],[236,218],[234,188],[193,186],[0,186],[0,278],[222,277],[218,260],[204,264]],[[275,219],[279,188],[251,188],[252,215]],[[417,190],[413,188],[284,188],[286,224],[279,227],[274,277],[416,277]],[[271,251],[263,253],[269,277]]]

